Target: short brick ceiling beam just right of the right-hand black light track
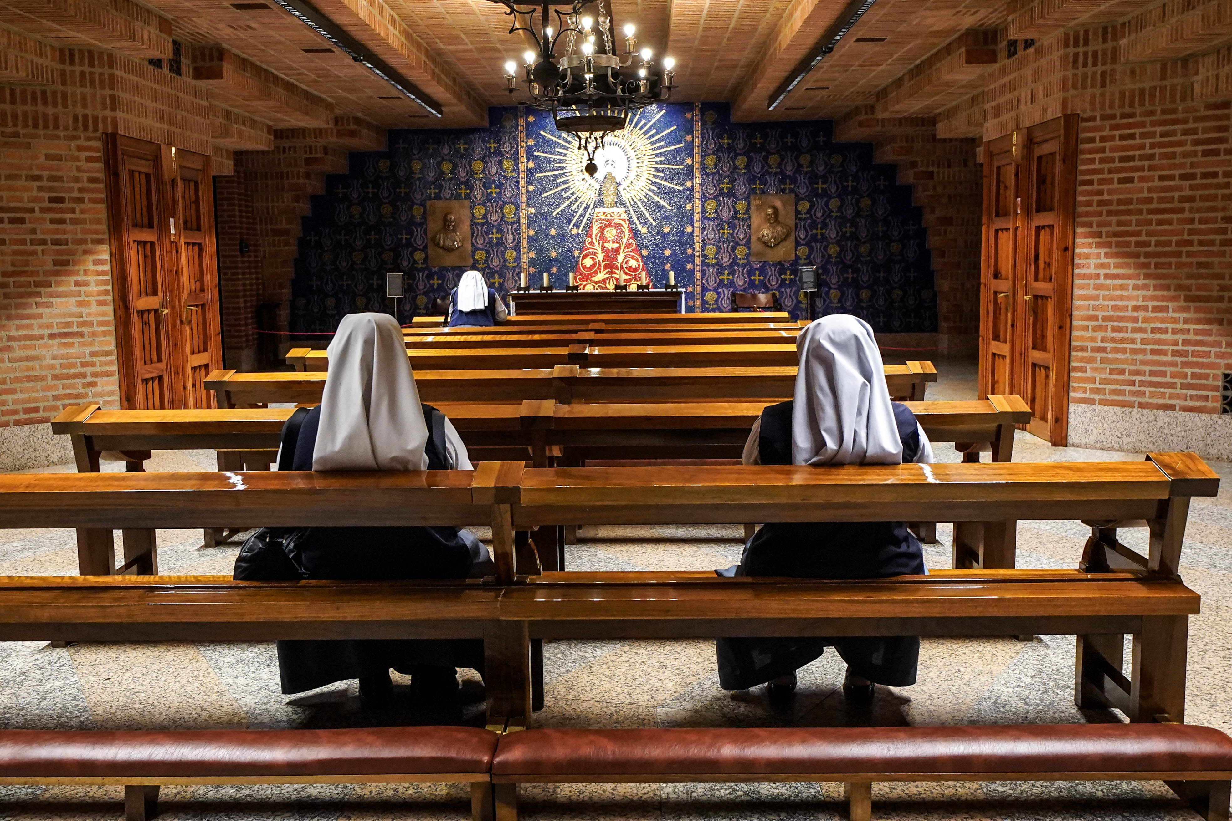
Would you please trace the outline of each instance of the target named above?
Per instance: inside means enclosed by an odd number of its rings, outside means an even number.
[[[877,92],[878,116],[935,114],[983,84],[1000,49],[995,28],[965,31]]]

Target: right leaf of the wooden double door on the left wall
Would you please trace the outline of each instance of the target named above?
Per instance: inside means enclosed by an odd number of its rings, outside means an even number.
[[[174,345],[181,407],[212,407],[206,377],[222,367],[222,330],[218,310],[218,271],[214,255],[213,185],[209,158],[169,149],[170,263],[175,305],[170,326],[179,331]]]

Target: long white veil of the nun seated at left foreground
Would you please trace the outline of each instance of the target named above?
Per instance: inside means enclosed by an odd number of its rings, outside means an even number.
[[[347,314],[329,343],[313,470],[424,470],[428,426],[398,320]]]

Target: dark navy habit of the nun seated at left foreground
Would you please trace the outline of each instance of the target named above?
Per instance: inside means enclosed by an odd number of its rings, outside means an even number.
[[[294,470],[312,470],[320,406],[304,419],[296,442]],[[429,425],[429,469],[440,470],[442,430]],[[480,555],[482,554],[482,555]],[[314,527],[303,545],[309,579],[466,579],[488,559],[471,534],[453,527]],[[490,559],[488,559],[490,561]],[[339,681],[378,676],[415,665],[483,671],[479,639],[365,639],[278,641],[283,693],[302,693]]]

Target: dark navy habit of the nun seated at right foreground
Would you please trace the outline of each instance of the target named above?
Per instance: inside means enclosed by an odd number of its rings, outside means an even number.
[[[893,402],[893,407],[903,462],[913,462],[920,449],[915,417],[906,405]],[[791,464],[791,410],[792,402],[787,401],[761,412],[761,464]],[[882,579],[925,570],[920,543],[906,522],[770,522],[749,539],[736,572]],[[819,659],[825,647],[834,647],[854,675],[877,684],[915,683],[919,636],[718,639],[718,683],[723,689],[755,687]]]

